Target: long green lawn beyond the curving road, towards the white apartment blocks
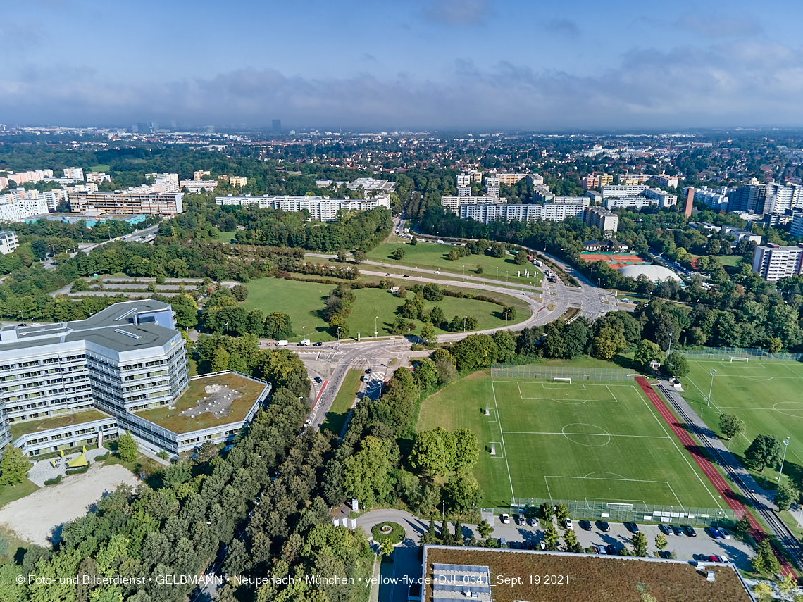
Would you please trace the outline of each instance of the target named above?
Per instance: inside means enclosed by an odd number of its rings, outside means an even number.
[[[390,254],[399,246],[405,250],[405,256],[400,261],[396,261],[390,258]],[[469,255],[468,257],[461,257],[456,261],[449,261],[446,259],[446,256],[452,249],[454,249],[454,247],[451,245],[439,245],[437,242],[418,242],[417,245],[390,242],[377,246],[376,249],[366,255],[366,258],[370,261],[384,262],[385,265],[388,266],[430,268],[432,270],[447,271],[459,275],[463,275],[463,266],[465,266],[466,275],[472,276],[477,275],[475,274],[475,269],[480,265],[483,266],[483,273],[480,276],[495,280],[498,274],[499,283],[509,282],[511,284],[532,284],[540,286],[541,279],[543,279],[543,275],[540,271],[536,270],[535,266],[530,264],[525,264],[524,266],[516,265],[516,263],[513,262],[512,255],[506,255],[503,258],[487,257],[487,255]],[[524,278],[525,269],[530,270],[530,278]],[[519,271],[521,271],[520,278],[516,275]],[[507,272],[507,276],[505,272]]]

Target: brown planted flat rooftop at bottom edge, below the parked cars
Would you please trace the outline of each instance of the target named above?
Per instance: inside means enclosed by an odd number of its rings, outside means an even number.
[[[495,602],[642,602],[642,592],[661,602],[751,602],[736,569],[729,564],[705,565],[705,571],[714,572],[713,581],[685,561],[540,551],[426,547],[426,564],[430,580],[442,573],[435,564],[488,567]],[[530,576],[540,577],[540,584],[531,584]],[[568,577],[568,584],[566,579],[563,583],[544,583],[544,576]],[[436,598],[451,597],[434,592],[431,583],[424,594],[422,600],[426,602],[433,602],[433,594]]]

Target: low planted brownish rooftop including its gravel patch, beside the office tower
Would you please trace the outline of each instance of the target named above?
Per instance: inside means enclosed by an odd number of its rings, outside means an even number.
[[[267,384],[236,374],[220,374],[190,380],[190,388],[169,406],[137,412],[173,433],[190,433],[245,419]]]

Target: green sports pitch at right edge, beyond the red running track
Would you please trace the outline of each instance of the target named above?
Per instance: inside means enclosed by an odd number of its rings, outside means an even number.
[[[690,360],[691,372],[683,379],[683,397],[698,416],[719,433],[719,414],[735,414],[746,426],[729,444],[744,462],[744,451],[756,435],[790,437],[784,474],[800,482],[803,474],[803,364],[801,362],[759,362]],[[716,370],[711,387],[711,372]],[[707,405],[711,388],[711,405]],[[751,474],[765,489],[774,489],[777,466]]]

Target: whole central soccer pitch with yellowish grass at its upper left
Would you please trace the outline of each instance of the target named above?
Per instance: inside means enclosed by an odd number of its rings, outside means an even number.
[[[475,475],[489,506],[515,496],[728,507],[634,381],[478,372],[427,398],[418,430],[436,426],[477,434]]]

